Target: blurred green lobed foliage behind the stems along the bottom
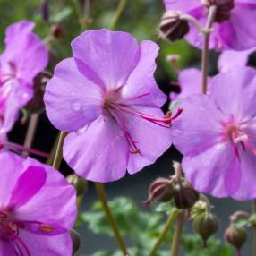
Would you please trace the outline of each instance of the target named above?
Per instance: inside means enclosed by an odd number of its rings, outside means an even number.
[[[129,248],[131,256],[148,256],[150,250],[163,226],[165,225],[165,213],[170,213],[173,206],[170,203],[160,203],[154,206],[154,210],[149,212],[138,209],[135,202],[125,197],[116,197],[109,201],[109,206],[115,217],[116,223],[122,235],[132,244]],[[90,211],[84,212],[80,216],[80,225],[87,225],[94,234],[112,235],[112,230],[108,226],[107,219],[99,201],[93,203]],[[172,240],[170,231],[166,235],[165,244],[158,251],[159,256],[169,255],[167,250]],[[222,244],[218,239],[209,239],[209,247],[201,249],[201,239],[197,235],[183,235],[183,250],[186,256],[229,256],[231,248],[227,244]],[[100,251],[93,256],[121,256],[120,252]]]

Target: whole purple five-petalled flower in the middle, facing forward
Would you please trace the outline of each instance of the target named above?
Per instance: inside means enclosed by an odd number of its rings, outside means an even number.
[[[153,73],[158,46],[125,32],[87,30],[72,42],[73,58],[55,68],[45,94],[47,115],[70,132],[64,159],[91,181],[110,182],[156,161],[171,145]],[[164,126],[164,127],[163,127]]]

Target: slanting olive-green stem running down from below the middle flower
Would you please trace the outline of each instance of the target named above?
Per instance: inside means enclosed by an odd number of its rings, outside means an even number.
[[[115,223],[115,219],[114,219],[114,217],[111,213],[111,210],[109,209],[109,206],[107,204],[107,197],[106,197],[106,192],[105,192],[104,186],[102,185],[102,183],[95,183],[95,187],[98,192],[98,198],[101,201],[103,209],[105,211],[107,221],[108,221],[109,225],[111,226],[113,233],[115,235],[116,242],[118,243],[119,248],[123,252],[124,256],[127,256],[128,252],[127,252],[125,243],[123,241],[122,236],[120,235],[120,232]]]

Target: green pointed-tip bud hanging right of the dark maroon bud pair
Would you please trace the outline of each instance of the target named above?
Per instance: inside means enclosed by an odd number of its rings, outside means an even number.
[[[193,228],[201,236],[203,247],[207,246],[207,240],[218,231],[218,218],[209,213],[201,213],[193,219]]]

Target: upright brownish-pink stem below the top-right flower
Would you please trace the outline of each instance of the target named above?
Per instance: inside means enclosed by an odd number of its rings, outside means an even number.
[[[211,33],[211,27],[215,20],[217,6],[213,5],[209,7],[208,19],[205,25],[205,28],[202,32],[203,34],[203,48],[201,55],[201,73],[202,73],[202,81],[201,81],[201,92],[207,93],[207,77],[208,77],[208,69],[209,69],[209,38]]]

